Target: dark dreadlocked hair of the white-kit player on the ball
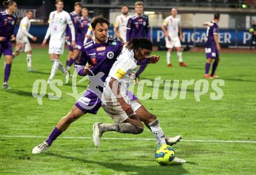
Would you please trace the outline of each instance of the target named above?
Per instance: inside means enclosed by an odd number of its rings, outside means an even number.
[[[140,49],[152,50],[152,42],[147,38],[131,38],[125,47],[133,52],[139,52]]]

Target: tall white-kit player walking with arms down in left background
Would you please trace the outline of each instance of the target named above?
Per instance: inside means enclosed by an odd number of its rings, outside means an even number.
[[[75,33],[74,33],[74,25],[71,20],[69,13],[63,10],[64,3],[62,0],[55,1],[56,10],[51,12],[49,15],[49,27],[47,30],[47,34],[45,35],[44,41],[42,42],[42,46],[45,46],[47,39],[51,35],[49,41],[49,54],[50,59],[54,63],[52,65],[51,75],[47,83],[51,83],[54,79],[54,75],[58,68],[63,72],[66,78],[66,83],[69,82],[69,74],[66,73],[65,68],[63,67],[62,63],[59,61],[59,56],[64,52],[64,45],[65,45],[65,30],[67,24],[70,27],[71,34],[72,34],[72,46],[73,48],[76,47],[75,42]]]

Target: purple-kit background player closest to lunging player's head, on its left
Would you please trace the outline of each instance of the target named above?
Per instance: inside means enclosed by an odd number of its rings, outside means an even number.
[[[81,10],[81,19],[80,19],[80,27],[79,27],[79,34],[78,34],[78,37],[77,37],[77,46],[78,48],[82,48],[83,45],[86,44],[86,42],[88,41],[87,39],[90,38],[88,35],[87,35],[87,31],[88,31],[88,28],[90,27],[91,25],[91,18],[88,17],[88,9],[87,8],[83,8]],[[86,39],[87,37],[87,39]]]

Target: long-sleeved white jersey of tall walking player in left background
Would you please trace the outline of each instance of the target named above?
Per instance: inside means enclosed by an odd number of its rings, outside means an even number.
[[[54,12],[51,12],[49,15],[48,23],[49,27],[47,30],[47,34],[45,35],[45,39],[48,39],[49,35],[51,35],[50,39],[53,40],[65,39],[65,30],[67,24],[69,25],[71,30],[72,40],[74,41],[76,39],[72,19],[70,17],[70,14],[66,11],[62,10],[62,12],[58,13],[55,10]]]

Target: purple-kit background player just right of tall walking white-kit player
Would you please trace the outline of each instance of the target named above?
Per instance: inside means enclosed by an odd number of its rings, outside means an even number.
[[[70,17],[73,21],[73,25],[74,25],[74,32],[75,32],[75,41],[77,44],[77,38],[79,37],[79,27],[80,27],[80,12],[82,9],[82,4],[81,2],[76,2],[74,3],[74,11],[69,13]],[[72,35],[71,35],[71,31],[69,26],[67,26],[66,28],[66,39],[67,39],[67,43],[71,43],[72,42]],[[67,61],[66,61],[66,69],[67,71],[70,70],[70,66],[74,63],[74,60],[76,59],[78,53],[79,53],[79,47],[77,47],[77,45],[75,47],[73,47],[72,45],[69,44],[69,55],[67,56]]]

